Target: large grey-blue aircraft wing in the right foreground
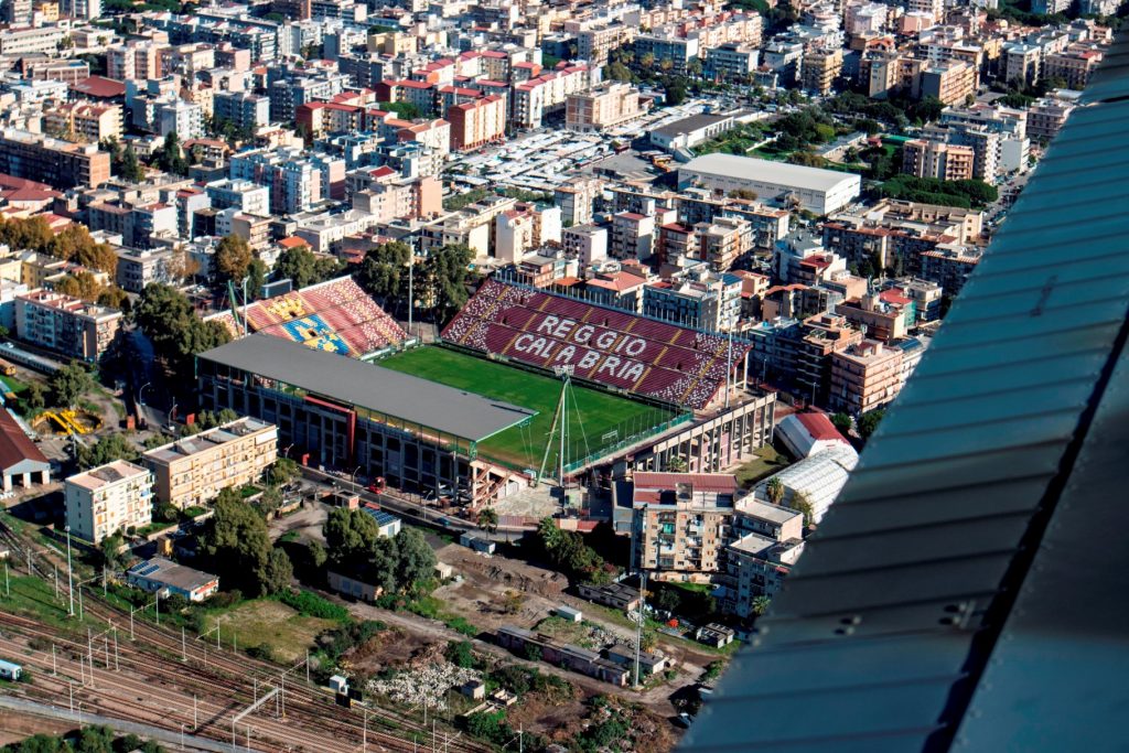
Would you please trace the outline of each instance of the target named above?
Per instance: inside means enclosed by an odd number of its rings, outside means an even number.
[[[1129,708],[1129,50],[683,751],[1108,751]]]

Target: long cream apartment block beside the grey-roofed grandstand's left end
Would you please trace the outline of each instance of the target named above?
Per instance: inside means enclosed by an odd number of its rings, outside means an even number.
[[[150,449],[141,463],[154,473],[157,499],[183,510],[256,481],[277,456],[278,427],[242,418]]]

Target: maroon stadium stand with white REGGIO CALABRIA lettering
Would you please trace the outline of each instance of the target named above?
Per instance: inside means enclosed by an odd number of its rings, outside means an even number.
[[[725,383],[727,338],[488,280],[443,332],[449,343],[704,409]],[[749,345],[733,343],[739,364]]]

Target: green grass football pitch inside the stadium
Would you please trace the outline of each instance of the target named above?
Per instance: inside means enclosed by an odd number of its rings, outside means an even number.
[[[478,358],[449,348],[423,347],[390,356],[377,364],[485,397],[536,411],[526,427],[511,427],[479,443],[479,454],[520,469],[539,469],[549,444],[561,383],[549,376]],[[677,413],[574,385],[568,399],[568,447],[564,459],[579,461],[669,421]],[[555,475],[560,435],[552,437],[546,475]]]

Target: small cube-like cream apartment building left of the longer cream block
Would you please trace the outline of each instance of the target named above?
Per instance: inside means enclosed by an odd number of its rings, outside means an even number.
[[[152,522],[152,473],[125,461],[111,461],[77,473],[63,484],[71,534],[99,544],[119,531]]]

